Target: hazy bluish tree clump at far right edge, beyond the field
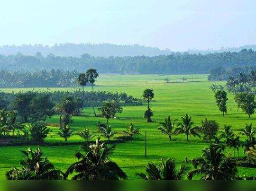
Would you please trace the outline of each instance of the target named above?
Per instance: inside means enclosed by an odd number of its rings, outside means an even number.
[[[220,81],[220,80],[228,80],[230,76],[235,77],[238,76],[239,73],[243,73],[245,75],[250,74],[251,71],[256,70],[256,65],[252,66],[244,66],[244,67],[216,67],[210,69],[210,75],[208,76],[209,81]]]

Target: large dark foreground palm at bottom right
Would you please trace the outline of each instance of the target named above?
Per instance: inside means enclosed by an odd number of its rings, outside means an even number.
[[[196,174],[201,174],[201,180],[233,180],[237,175],[236,164],[223,154],[224,147],[210,144],[202,150],[203,154],[192,159],[194,170],[187,174],[189,180]],[[200,168],[197,168],[200,166]]]

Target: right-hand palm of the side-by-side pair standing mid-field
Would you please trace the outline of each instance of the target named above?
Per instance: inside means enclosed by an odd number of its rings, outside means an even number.
[[[191,120],[191,116],[186,114],[184,117],[182,117],[182,122],[178,124],[178,127],[175,129],[176,134],[183,134],[185,133],[187,136],[187,141],[189,141],[188,136],[193,135],[194,137],[199,137],[200,138],[200,128],[195,126],[192,127],[194,122]]]

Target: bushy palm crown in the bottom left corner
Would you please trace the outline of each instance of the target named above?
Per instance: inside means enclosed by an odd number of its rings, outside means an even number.
[[[55,170],[48,157],[43,158],[41,148],[21,151],[25,160],[20,161],[21,169],[13,168],[6,173],[7,180],[65,180],[65,174]]]

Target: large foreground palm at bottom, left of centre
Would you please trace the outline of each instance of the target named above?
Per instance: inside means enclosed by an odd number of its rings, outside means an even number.
[[[105,142],[100,143],[100,137],[95,144],[84,145],[85,152],[76,152],[75,157],[79,160],[67,169],[66,174],[73,174],[72,180],[119,180],[127,179],[127,175],[113,161],[110,155],[116,145],[108,146]]]

